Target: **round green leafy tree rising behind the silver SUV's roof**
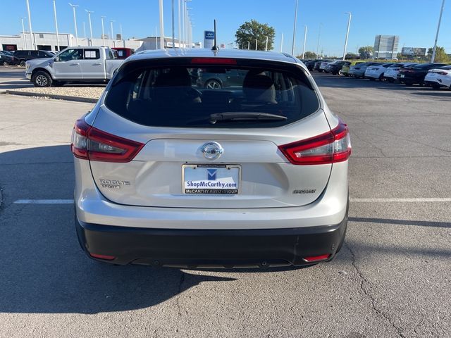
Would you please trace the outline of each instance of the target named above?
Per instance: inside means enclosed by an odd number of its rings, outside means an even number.
[[[264,51],[266,48],[266,37],[268,37],[268,51],[273,49],[276,30],[267,23],[259,23],[257,20],[251,20],[240,25],[237,29],[235,42],[240,49],[247,49],[249,42],[250,49],[255,49],[255,40],[257,39],[257,49]]]

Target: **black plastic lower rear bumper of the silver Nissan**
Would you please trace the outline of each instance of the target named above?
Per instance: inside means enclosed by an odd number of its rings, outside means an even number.
[[[106,263],[187,268],[311,265],[330,261],[345,238],[346,217],[337,225],[264,230],[180,230],[83,223],[75,217],[87,255],[113,256]],[[316,263],[316,262],[313,262]]]

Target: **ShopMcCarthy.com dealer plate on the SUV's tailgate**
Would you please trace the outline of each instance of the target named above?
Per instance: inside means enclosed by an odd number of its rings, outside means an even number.
[[[183,194],[238,194],[240,181],[240,165],[182,165]]]

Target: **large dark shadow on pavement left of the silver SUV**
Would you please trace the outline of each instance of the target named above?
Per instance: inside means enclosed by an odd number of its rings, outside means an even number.
[[[0,312],[126,311],[154,306],[202,282],[234,280],[92,261],[78,244],[72,205],[13,204],[18,194],[26,193],[20,193],[23,186],[31,194],[24,199],[72,196],[68,145],[7,151],[0,154],[0,163],[6,199],[0,209]]]

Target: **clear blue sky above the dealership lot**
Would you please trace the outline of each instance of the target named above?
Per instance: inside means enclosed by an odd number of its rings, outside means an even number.
[[[20,17],[27,17],[25,0],[6,1],[2,6],[0,35],[16,35],[21,30]],[[83,35],[85,22],[87,34],[89,27],[85,9],[92,13],[92,30],[96,37],[101,35],[100,16],[115,20],[114,32],[123,25],[123,35],[128,37],[147,37],[155,35],[159,27],[158,0],[72,0],[80,7],[77,12],[78,34]],[[345,41],[347,15],[352,12],[352,23],[348,51],[356,51],[358,46],[373,45],[374,36],[399,35],[402,46],[431,47],[435,39],[438,15],[442,0],[377,0],[373,1],[316,1],[299,0],[295,51],[302,51],[304,25],[307,25],[306,50],[316,51],[319,25],[321,39],[319,49],[324,54],[339,56]],[[177,8],[178,0],[174,0]],[[171,35],[171,0],[164,0],[165,35]],[[275,47],[280,49],[280,39],[284,34],[283,51],[290,52],[295,13],[295,0],[192,0],[194,20],[194,40],[203,40],[203,31],[213,28],[217,20],[218,43],[228,44],[235,40],[235,31],[245,21],[255,19],[268,23],[276,29]],[[56,0],[58,27],[60,32],[74,34],[72,8],[66,0]],[[52,0],[30,0],[32,28],[34,31],[53,32],[54,16]],[[175,14],[175,34],[177,35],[177,14]],[[27,26],[27,21],[25,21]],[[27,28],[26,28],[27,29]],[[451,1],[445,3],[438,45],[451,53]]]

